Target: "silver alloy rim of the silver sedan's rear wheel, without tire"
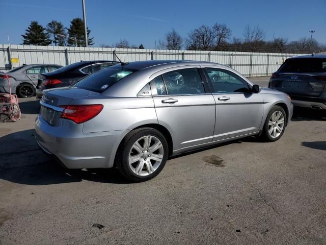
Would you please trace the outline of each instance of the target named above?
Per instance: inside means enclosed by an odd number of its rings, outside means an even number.
[[[153,174],[159,167],[163,156],[164,149],[161,141],[155,136],[147,135],[132,145],[128,163],[134,174],[147,176]]]

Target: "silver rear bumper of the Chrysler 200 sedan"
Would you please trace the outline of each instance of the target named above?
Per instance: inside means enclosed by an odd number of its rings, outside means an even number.
[[[83,125],[74,125],[77,130],[66,130],[63,125],[53,127],[38,116],[35,121],[38,145],[47,154],[55,155],[67,168],[112,167],[119,143],[128,130],[83,133]]]

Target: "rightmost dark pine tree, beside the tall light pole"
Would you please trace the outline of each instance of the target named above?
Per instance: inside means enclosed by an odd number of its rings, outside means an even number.
[[[84,21],[81,18],[74,18],[70,21],[70,27],[67,28],[69,37],[77,39],[77,46],[86,46],[85,45],[85,34],[84,34]],[[90,38],[90,30],[87,28],[87,37],[88,45],[93,45],[93,37]],[[68,45],[74,46],[75,41],[68,39]]]

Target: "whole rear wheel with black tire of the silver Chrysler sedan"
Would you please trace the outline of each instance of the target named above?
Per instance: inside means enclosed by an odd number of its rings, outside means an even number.
[[[121,142],[116,158],[120,173],[133,182],[147,181],[159,174],[168,159],[168,142],[152,128],[131,131]]]

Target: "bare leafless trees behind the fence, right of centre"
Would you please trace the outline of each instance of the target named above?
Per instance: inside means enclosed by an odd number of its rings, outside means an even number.
[[[315,39],[302,37],[288,41],[286,37],[265,39],[265,31],[247,25],[242,38],[232,37],[232,31],[226,24],[215,23],[209,27],[202,25],[191,30],[183,38],[176,30],[166,33],[164,39],[158,40],[157,48],[169,50],[205,50],[205,51],[238,51],[238,52],[268,52],[268,53],[319,53],[326,50],[326,45]]]

